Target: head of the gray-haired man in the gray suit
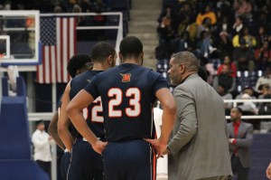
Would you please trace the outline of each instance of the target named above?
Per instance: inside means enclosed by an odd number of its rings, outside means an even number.
[[[181,84],[190,74],[199,71],[199,62],[192,52],[173,54],[168,71],[173,85]]]

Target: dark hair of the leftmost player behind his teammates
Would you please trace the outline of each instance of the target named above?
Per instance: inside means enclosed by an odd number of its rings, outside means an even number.
[[[67,70],[71,76],[74,78],[76,76],[76,72],[81,69],[87,62],[91,62],[91,58],[88,54],[75,54],[70,58],[68,62]]]

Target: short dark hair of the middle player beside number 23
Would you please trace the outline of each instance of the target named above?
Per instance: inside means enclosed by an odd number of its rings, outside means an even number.
[[[90,53],[92,62],[103,62],[109,55],[115,55],[115,47],[111,43],[99,42],[94,45]]]

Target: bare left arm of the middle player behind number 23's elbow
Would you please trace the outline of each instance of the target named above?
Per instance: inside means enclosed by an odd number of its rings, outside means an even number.
[[[70,135],[70,130],[69,130],[70,119],[65,111],[65,109],[67,108],[70,102],[69,94],[70,94],[70,82],[67,84],[66,89],[63,93],[61,112],[60,112],[60,117],[58,121],[58,132],[61,137],[61,140],[64,146],[70,151],[74,142],[73,142],[72,136]]]

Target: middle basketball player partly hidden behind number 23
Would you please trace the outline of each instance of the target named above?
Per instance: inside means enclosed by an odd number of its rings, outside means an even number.
[[[73,99],[76,96],[79,90],[82,90],[99,72],[106,71],[108,68],[115,66],[117,53],[110,43],[97,43],[92,49],[91,59],[93,62],[93,70],[80,74],[70,81],[70,86],[67,86],[62,99],[59,133],[64,145],[69,150],[71,150],[72,147],[72,150],[70,151],[71,160],[67,178],[69,180],[103,179],[102,157],[89,146],[87,140],[79,133],[73,144],[68,128],[70,119],[65,114],[67,104],[70,99]],[[102,115],[100,98],[96,99],[88,109],[83,109],[82,111],[88,127],[93,130],[97,137],[105,139],[103,125],[104,118]]]

